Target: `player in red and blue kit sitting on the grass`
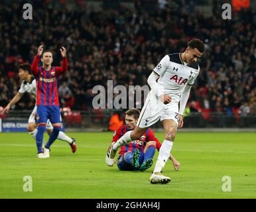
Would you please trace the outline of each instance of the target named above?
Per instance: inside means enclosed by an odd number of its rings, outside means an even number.
[[[135,129],[137,121],[139,119],[140,111],[138,109],[129,109],[125,113],[125,124],[117,131],[113,136],[112,144],[115,143],[125,132],[133,131]],[[155,149],[159,150],[161,144],[155,137],[154,132],[149,128],[138,140],[133,140],[129,144],[122,146],[117,158],[117,167],[119,170],[124,171],[145,171],[153,164],[153,157]],[[172,155],[170,160],[175,170],[180,168],[180,162],[178,162]]]

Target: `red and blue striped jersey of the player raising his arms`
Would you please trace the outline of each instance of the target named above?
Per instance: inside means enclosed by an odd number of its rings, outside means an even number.
[[[36,105],[60,106],[58,100],[57,78],[68,69],[68,59],[63,58],[61,67],[45,70],[38,67],[40,56],[36,55],[31,65],[31,72],[36,78]]]

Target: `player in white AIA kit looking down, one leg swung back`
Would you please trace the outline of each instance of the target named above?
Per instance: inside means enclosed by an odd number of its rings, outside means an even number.
[[[199,39],[188,42],[182,53],[168,54],[162,58],[148,78],[151,91],[147,96],[137,127],[126,132],[107,150],[106,163],[113,166],[117,149],[136,140],[147,131],[148,127],[162,122],[164,142],[159,150],[159,157],[149,181],[152,184],[168,184],[170,178],[162,175],[162,169],[170,156],[177,127],[183,127],[183,112],[190,95],[191,85],[199,74],[198,58],[202,57],[204,43]],[[180,107],[178,103],[180,102]]]

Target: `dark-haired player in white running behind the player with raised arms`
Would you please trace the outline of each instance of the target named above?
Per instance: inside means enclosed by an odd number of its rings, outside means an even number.
[[[23,97],[24,93],[30,93],[34,99],[36,99],[36,80],[32,75],[29,74],[29,70],[31,70],[31,65],[30,64],[21,64],[18,66],[18,76],[23,82],[21,83],[21,87],[15,97],[9,102],[9,104],[5,107],[2,113],[9,113],[9,110],[13,105],[15,105],[21,97]],[[36,134],[37,134],[37,129],[36,129],[36,106],[34,106],[34,109],[29,117],[29,122],[28,122],[28,132],[31,134],[32,138],[36,140]],[[47,120],[47,125],[46,125],[47,133],[50,134],[52,132],[52,124],[50,123],[50,120]],[[64,140],[70,144],[70,147],[72,149],[72,152],[76,152],[76,142],[75,138],[70,138],[67,136],[64,132],[60,131],[58,134],[58,139]]]

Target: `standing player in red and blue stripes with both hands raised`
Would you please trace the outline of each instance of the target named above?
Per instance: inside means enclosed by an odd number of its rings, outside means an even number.
[[[50,146],[58,137],[62,127],[60,116],[60,103],[58,100],[58,86],[57,78],[66,72],[68,69],[68,59],[66,58],[66,49],[62,46],[60,53],[62,55],[62,66],[51,66],[53,58],[52,52],[46,50],[43,54],[43,46],[39,46],[37,55],[31,65],[31,72],[36,79],[36,123],[38,125],[38,132],[36,134],[36,146],[38,158],[50,157]],[[40,56],[42,55],[42,66],[38,67]],[[50,119],[53,131],[50,134],[47,144],[42,151],[42,140],[44,132],[46,131],[46,121]]]

